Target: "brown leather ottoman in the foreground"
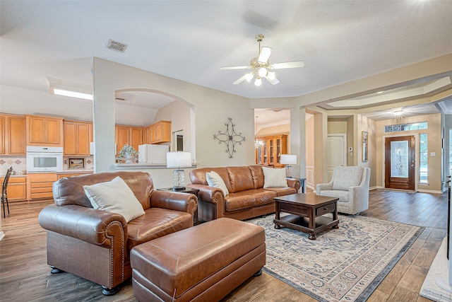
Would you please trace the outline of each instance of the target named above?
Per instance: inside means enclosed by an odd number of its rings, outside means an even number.
[[[219,301],[266,264],[261,226],[220,218],[131,250],[139,301]]]

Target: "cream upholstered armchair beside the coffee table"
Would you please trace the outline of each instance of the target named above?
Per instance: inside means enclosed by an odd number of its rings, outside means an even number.
[[[334,167],[331,182],[317,185],[317,195],[338,197],[338,212],[358,214],[369,209],[370,168]]]

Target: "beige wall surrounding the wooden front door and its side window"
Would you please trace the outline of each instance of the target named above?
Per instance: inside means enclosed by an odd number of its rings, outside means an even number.
[[[391,132],[384,133],[383,127],[392,124],[403,124],[413,122],[428,122],[428,129],[425,130],[413,130],[403,132]],[[427,167],[429,171],[428,185],[418,185],[417,190],[425,192],[441,192],[442,180],[441,180],[441,114],[433,115],[420,115],[417,117],[406,117],[403,119],[391,119],[375,122],[375,138],[374,143],[376,153],[376,185],[379,187],[384,186],[384,137],[393,137],[400,135],[415,135],[416,137],[416,161],[419,165],[419,134],[428,134],[428,160]],[[431,153],[434,152],[435,156]],[[369,153],[370,156],[370,153]],[[416,175],[416,182],[419,180],[419,175]]]

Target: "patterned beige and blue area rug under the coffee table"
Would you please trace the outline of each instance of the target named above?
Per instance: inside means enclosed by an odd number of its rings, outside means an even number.
[[[423,228],[339,215],[339,228],[317,234],[274,228],[274,216],[248,222],[266,230],[263,268],[319,301],[366,301]]]

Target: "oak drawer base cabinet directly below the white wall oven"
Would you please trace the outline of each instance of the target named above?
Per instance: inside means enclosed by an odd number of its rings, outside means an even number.
[[[29,173],[27,175],[27,199],[53,198],[52,185],[57,179],[55,173]]]

